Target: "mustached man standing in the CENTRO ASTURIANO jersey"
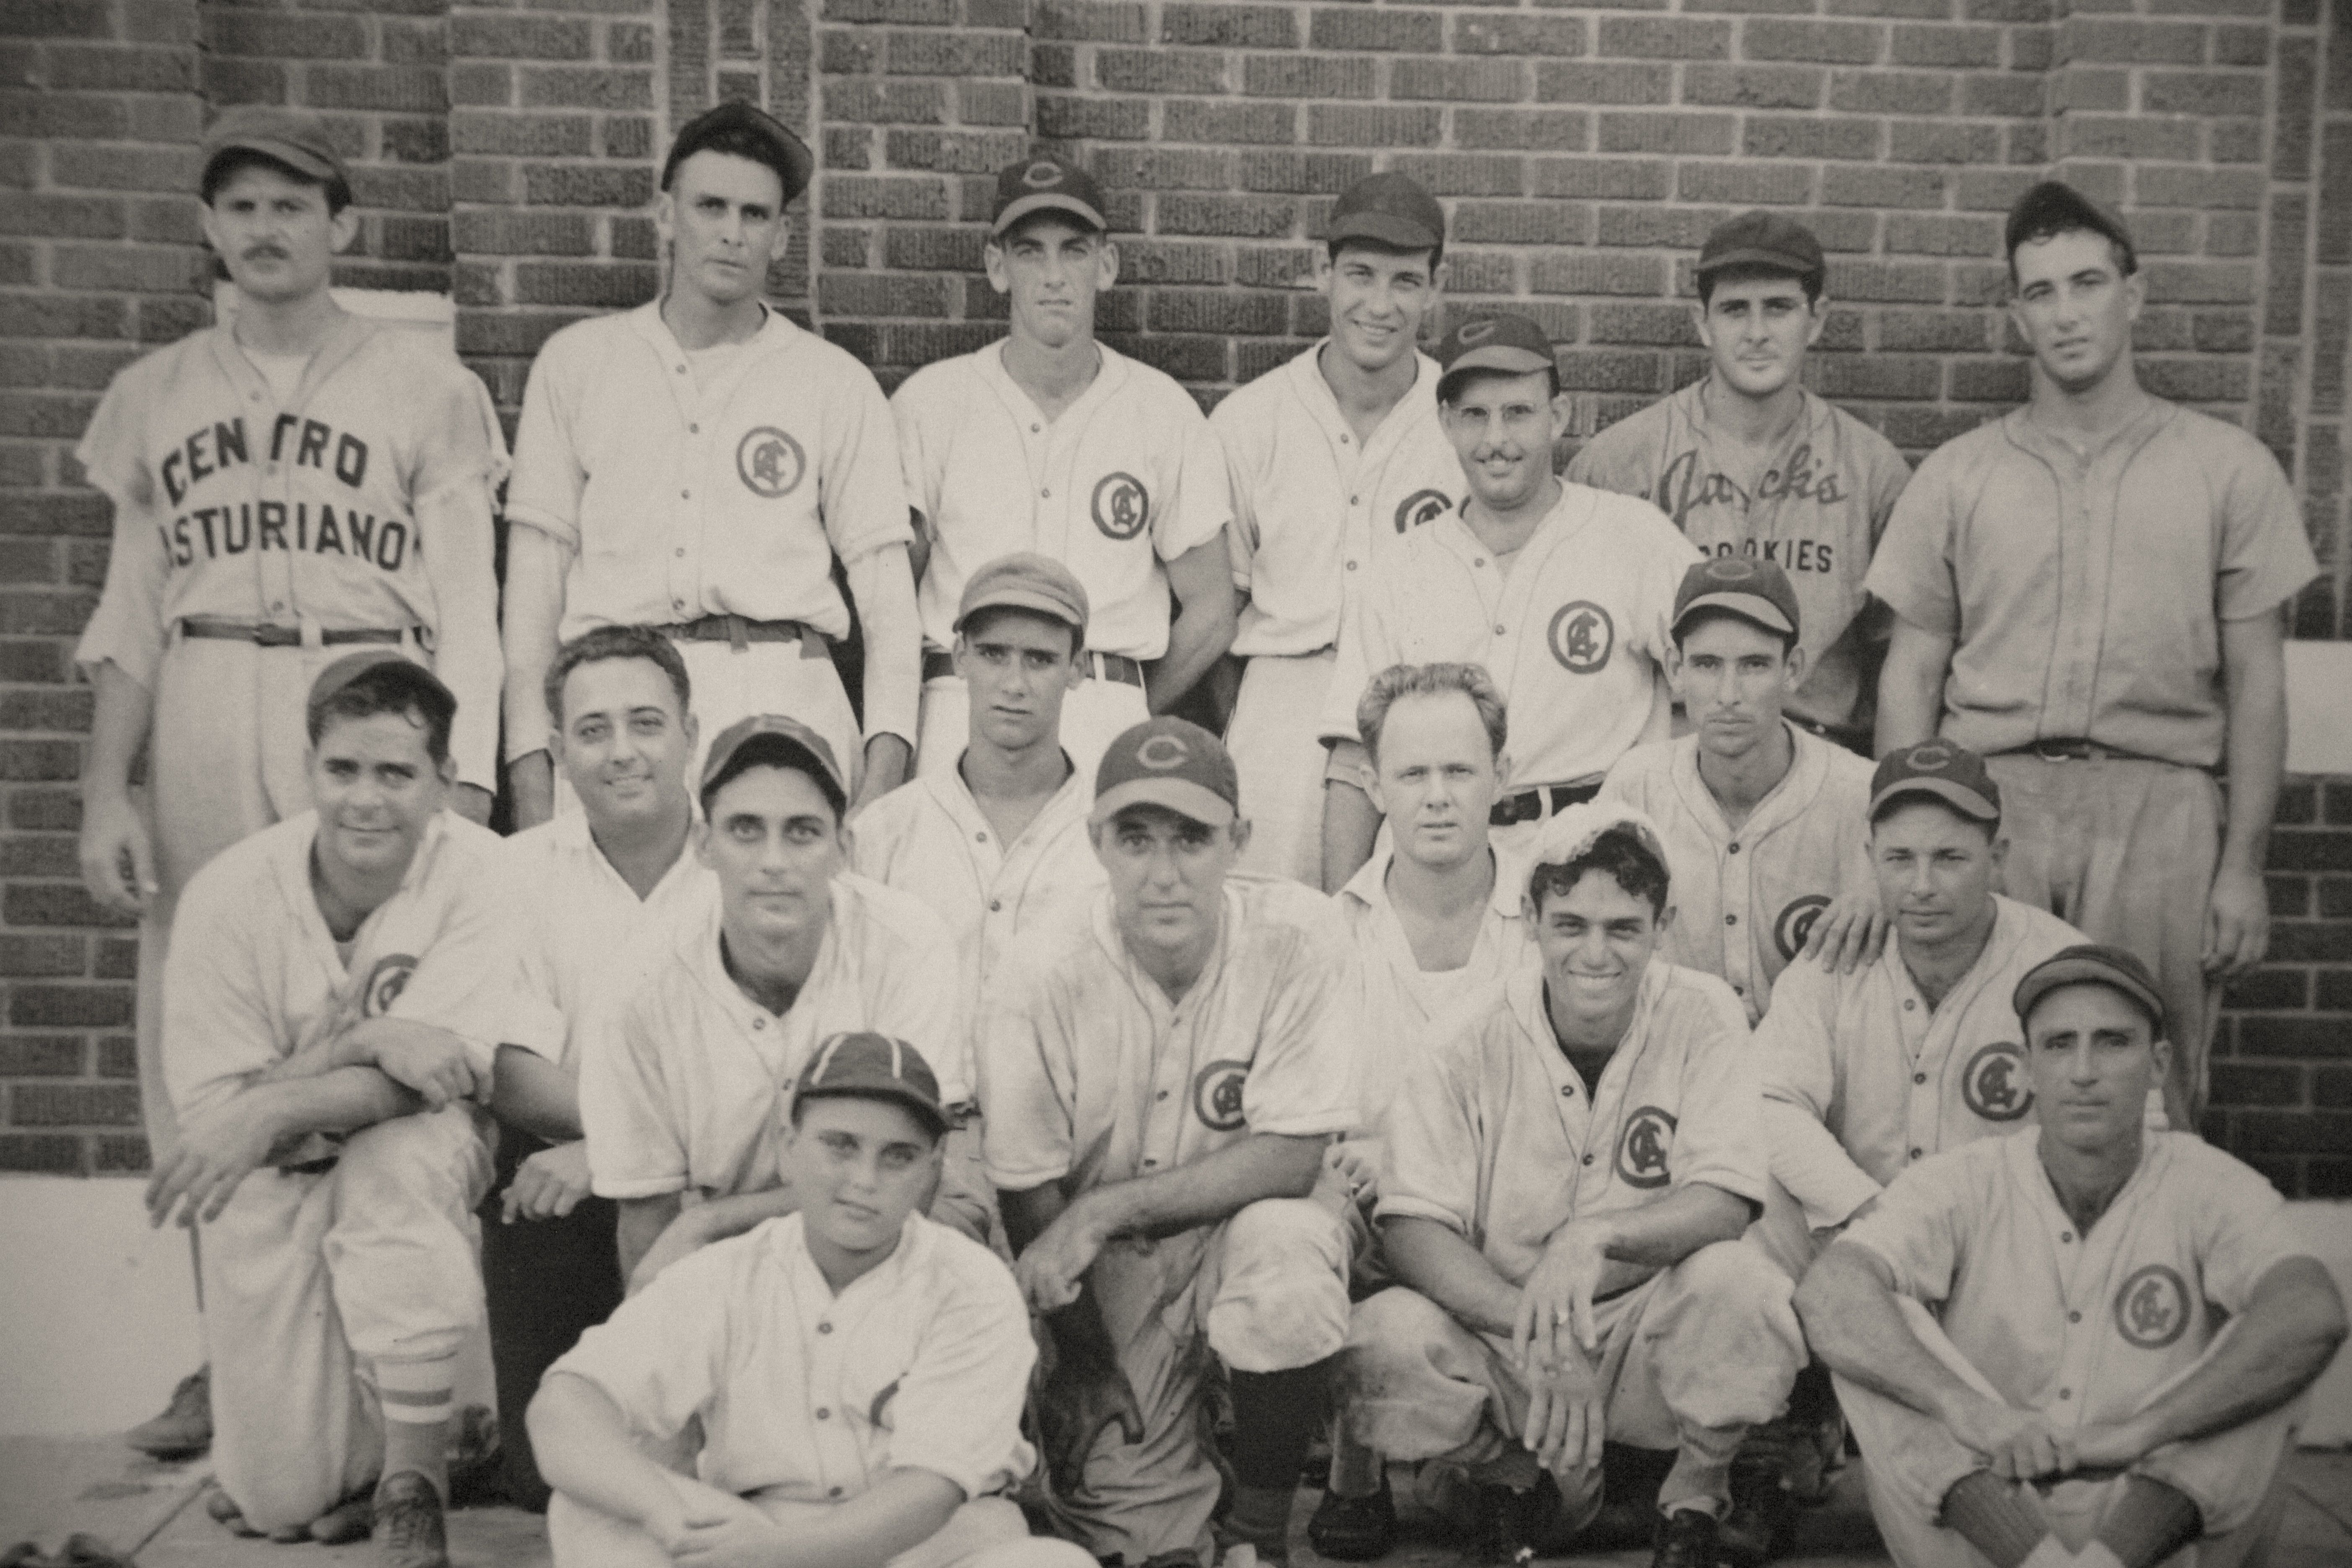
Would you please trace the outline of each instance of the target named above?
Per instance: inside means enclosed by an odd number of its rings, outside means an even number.
[[[492,489],[506,442],[435,336],[343,313],[350,179],[313,115],[233,108],[205,139],[202,226],[230,324],[118,374],[75,461],[115,512],[75,661],[96,689],[82,884],[139,917],[139,1100],[155,1159],[176,1128],[158,1067],[181,889],[310,804],[303,693],[350,646],[397,646],[463,698],[452,804],[489,818],[499,682]],[[430,543],[430,548],[426,548]],[[148,752],[148,792],[129,790]],[[179,1406],[179,1399],[174,1399]],[[202,1448],[162,1422],[151,1446]]]

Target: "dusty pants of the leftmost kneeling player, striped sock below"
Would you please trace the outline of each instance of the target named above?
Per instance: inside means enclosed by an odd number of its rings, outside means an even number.
[[[212,1467],[256,1530],[376,1483],[383,1363],[456,1366],[482,1324],[480,1112],[449,1105],[343,1140],[327,1171],[256,1171],[205,1225]]]

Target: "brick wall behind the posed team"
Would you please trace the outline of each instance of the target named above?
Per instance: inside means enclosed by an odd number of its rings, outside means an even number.
[[[2013,402],[1999,212],[2060,172],[2131,214],[2152,386],[2288,463],[2345,623],[2352,0],[16,0],[0,12],[0,1168],[143,1159],[129,945],[73,879],[66,668],[106,512],[66,449],[106,376],[205,317],[209,106],[329,110],[360,160],[343,282],[452,289],[515,409],[529,357],[656,284],[668,132],[757,99],[818,150],[771,294],[887,386],[995,336],[988,172],[1037,143],[1112,190],[1105,336],[1204,402],[1305,348],[1336,195],[1454,214],[1456,308],[1562,346],[1576,435],[1700,371],[1689,256],[1750,205],[1832,254],[1816,388],[1919,454]],[[2232,994],[2209,1131],[2352,1192],[2352,780],[2298,780],[2274,964]]]

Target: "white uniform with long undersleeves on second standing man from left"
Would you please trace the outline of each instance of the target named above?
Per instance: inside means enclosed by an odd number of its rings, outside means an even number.
[[[840,557],[866,614],[866,736],[915,733],[915,628],[877,621],[889,545],[913,541],[898,437],[873,371],[769,313],[703,376],[652,301],[564,327],[532,364],[506,515],[569,555],[564,639],[597,625],[703,616],[797,621],[849,635]],[[661,395],[654,395],[654,388]],[[818,639],[680,639],[703,743],[741,717],[788,712],[844,769],[866,755]],[[510,693],[506,755],[546,745],[536,691]]]

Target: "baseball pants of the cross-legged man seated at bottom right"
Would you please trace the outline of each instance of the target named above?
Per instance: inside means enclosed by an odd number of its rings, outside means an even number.
[[[1992,1382],[1969,1366],[1969,1359],[1959,1354],[1959,1347],[1926,1307],[1907,1298],[1896,1298],[1896,1307],[1903,1309],[1903,1319],[1929,1354],[1985,1399],[2002,1399]],[[2206,1347],[2206,1356],[2218,1345],[2220,1338]],[[2204,1366],[2204,1356],[2152,1389],[2147,1401],[2161,1399],[2199,1366]],[[1940,1523],[1945,1493],[1983,1469],[1985,1462],[1936,1420],[1846,1378],[1837,1378],[1837,1403],[1844,1406],[1846,1422],[1863,1448],[1870,1514],[1877,1519],[1879,1535],[1898,1568],[1990,1568],[1976,1547]],[[2082,1552],[2107,1507],[2122,1497],[2124,1479],[2143,1474],[2183,1493],[2204,1514],[2204,1540],[2166,1559],[2171,1568],[2258,1563],[2279,1523],[2270,1481],[2279,1469],[2286,1436],[2300,1408],[2303,1401],[2288,1401],[2244,1427],[2187,1443],[2169,1443],[2133,1465],[2131,1472],[2098,1479],[2070,1476],[2046,1488],[2020,1486],[2020,1493],[2030,1507],[2042,1512],[2067,1552]]]

